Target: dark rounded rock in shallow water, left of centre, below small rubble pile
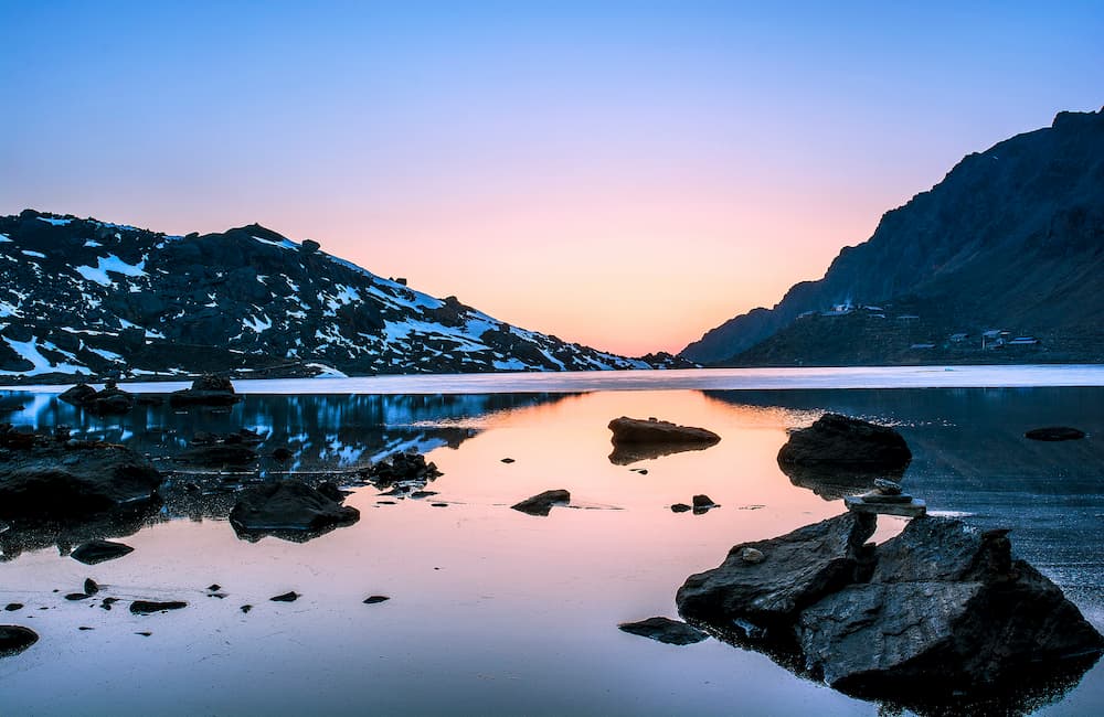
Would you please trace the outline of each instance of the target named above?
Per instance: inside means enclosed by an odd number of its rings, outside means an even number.
[[[357,509],[341,505],[333,497],[295,480],[247,489],[230,512],[231,525],[243,537],[275,535],[286,539],[309,539],[358,520],[360,511]]]

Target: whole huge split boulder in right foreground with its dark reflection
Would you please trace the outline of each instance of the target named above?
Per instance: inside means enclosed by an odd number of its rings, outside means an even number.
[[[1015,558],[1007,531],[983,533],[952,518],[914,518],[873,549],[860,552],[853,541],[849,570],[777,600],[779,581],[830,572],[838,558],[824,555],[795,571],[793,552],[809,549],[810,528],[838,545],[846,518],[873,525],[873,516],[847,514],[754,544],[764,560],[742,577],[730,565],[736,546],[721,568],[687,580],[680,612],[842,692],[904,705],[1022,689],[1083,671],[1104,651],[1104,638],[1062,591]],[[749,586],[753,576],[758,584]],[[764,614],[767,607],[781,609]]]

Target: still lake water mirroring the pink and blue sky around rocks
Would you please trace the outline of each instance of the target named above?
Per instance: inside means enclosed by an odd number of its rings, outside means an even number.
[[[266,436],[262,453],[293,448],[293,470],[308,474],[418,448],[444,475],[423,500],[355,489],[347,504],[361,520],[301,544],[238,539],[226,521],[233,497],[217,490],[170,492],[121,538],[135,552],[96,566],[61,555],[65,536],[0,539],[0,603],[26,606],[3,622],[40,634],[0,660],[0,715],[892,713],[715,640],[680,648],[617,630],[676,618],[678,587],[733,544],[843,511],[775,462],[786,430],[825,410],[895,426],[914,453],[910,492],[934,512],[1011,527],[1017,552],[1104,630],[1100,367],[825,371],[241,382],[247,395],[230,414],[157,406],[109,419],[59,402],[57,387],[2,392],[26,397],[3,418],[17,426],[65,424],[155,457],[197,430],[244,427]],[[702,426],[722,441],[617,465],[606,424],[622,415]],[[1089,438],[1022,437],[1055,424]],[[263,459],[256,478],[280,470]],[[572,507],[548,517],[509,509],[555,488],[571,491]],[[721,507],[671,513],[696,493]],[[884,539],[904,522],[879,525]],[[86,577],[100,584],[97,598],[124,602],[105,611],[64,600]],[[226,597],[208,597],[211,584]],[[268,600],[288,590],[302,597]],[[363,604],[369,595],[392,599]],[[132,616],[125,601],[137,598],[189,606]],[[1104,713],[1104,666],[1033,708]]]

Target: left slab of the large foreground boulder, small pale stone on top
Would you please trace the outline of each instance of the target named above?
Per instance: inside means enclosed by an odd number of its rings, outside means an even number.
[[[676,596],[679,612],[725,625],[788,628],[798,610],[856,580],[874,527],[872,515],[845,513],[782,537],[736,545],[719,567],[687,578]],[[744,560],[745,548],[765,559]]]

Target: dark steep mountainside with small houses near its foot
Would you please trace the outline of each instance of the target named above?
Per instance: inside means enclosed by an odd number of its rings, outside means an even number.
[[[722,365],[1100,362],[1102,313],[1104,110],[1061,113],[966,157],[841,250],[822,279],[682,355]]]

